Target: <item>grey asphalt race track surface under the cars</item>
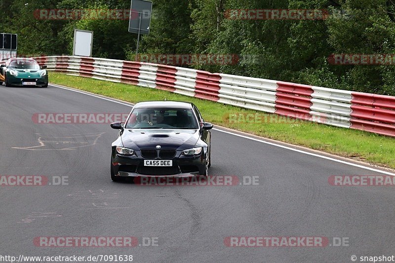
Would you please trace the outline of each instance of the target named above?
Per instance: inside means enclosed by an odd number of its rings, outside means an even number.
[[[0,187],[0,255],[133,255],[133,262],[352,262],[356,255],[359,262],[395,254],[394,187],[328,184],[331,175],[382,174],[377,171],[216,129],[210,174],[257,176],[258,185],[114,183],[109,168],[117,131],[110,125],[32,121],[34,113],[130,109],[53,85],[0,87],[0,174],[68,177],[68,185]],[[39,138],[43,147],[21,149],[39,146]],[[73,150],[62,150],[70,145]],[[38,247],[33,240],[42,236],[134,236],[140,244]],[[349,246],[227,247],[228,236],[346,237]],[[143,237],[157,246],[143,246]]]

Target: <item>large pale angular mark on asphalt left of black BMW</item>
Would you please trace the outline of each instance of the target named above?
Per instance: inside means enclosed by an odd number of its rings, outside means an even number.
[[[77,148],[95,145],[103,134],[105,132],[72,134],[70,137],[47,137],[36,133],[39,137],[38,146],[12,148],[20,150],[76,150]]]

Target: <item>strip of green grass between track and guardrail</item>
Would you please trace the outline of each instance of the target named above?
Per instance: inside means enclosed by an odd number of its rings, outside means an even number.
[[[205,121],[262,137],[395,169],[395,139],[373,133],[279,117],[152,88],[50,73],[50,82],[136,103],[190,101]],[[257,116],[257,117],[254,117]]]

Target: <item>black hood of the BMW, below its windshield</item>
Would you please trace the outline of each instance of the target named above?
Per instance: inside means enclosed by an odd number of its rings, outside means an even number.
[[[123,146],[133,150],[162,149],[185,150],[193,148],[200,137],[199,130],[125,129],[121,135]]]

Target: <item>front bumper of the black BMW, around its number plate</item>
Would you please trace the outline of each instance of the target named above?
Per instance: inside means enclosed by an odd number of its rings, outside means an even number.
[[[171,159],[148,159],[141,156],[140,150],[136,155],[125,156],[119,154],[112,147],[111,165],[115,176],[120,177],[193,177],[203,175],[206,165],[207,148],[194,156],[181,155],[177,150]],[[172,166],[144,166],[144,160],[172,160]]]

